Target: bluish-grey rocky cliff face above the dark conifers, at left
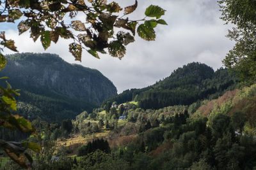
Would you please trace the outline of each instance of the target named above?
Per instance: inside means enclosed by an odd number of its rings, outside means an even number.
[[[116,87],[96,69],[68,64],[50,53],[8,55],[0,76],[8,76],[13,87],[36,94],[58,94],[100,104],[116,95]]]

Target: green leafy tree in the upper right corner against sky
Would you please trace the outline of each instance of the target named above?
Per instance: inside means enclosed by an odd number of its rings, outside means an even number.
[[[228,31],[227,37],[236,45],[227,54],[223,63],[234,69],[241,80],[251,85],[256,82],[256,2],[253,0],[218,1],[222,19],[236,25]]]

